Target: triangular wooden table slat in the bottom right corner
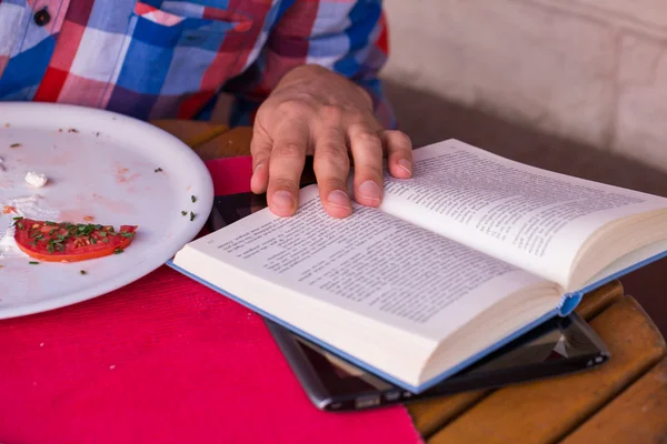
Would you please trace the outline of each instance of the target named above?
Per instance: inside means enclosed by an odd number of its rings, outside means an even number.
[[[667,359],[569,435],[564,444],[667,442]]]

